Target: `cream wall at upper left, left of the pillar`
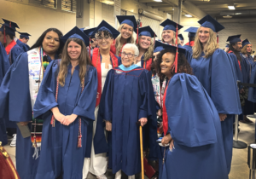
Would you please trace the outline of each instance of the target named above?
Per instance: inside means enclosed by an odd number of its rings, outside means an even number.
[[[49,27],[55,27],[65,34],[76,25],[76,15],[61,11],[61,3],[58,4],[58,9],[49,9],[32,5],[28,0],[23,0],[22,3],[0,0],[0,18],[16,22],[20,26],[18,31],[31,34],[28,42],[31,46]],[[19,38],[20,34],[16,33],[16,37]]]

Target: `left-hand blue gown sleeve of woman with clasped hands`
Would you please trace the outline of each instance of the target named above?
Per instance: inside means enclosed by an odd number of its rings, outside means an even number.
[[[47,113],[47,115],[51,113],[49,111],[51,108],[58,106],[58,103],[55,101],[58,63],[59,60],[51,61],[44,72],[44,78],[33,107],[34,118],[43,118],[45,113]]]

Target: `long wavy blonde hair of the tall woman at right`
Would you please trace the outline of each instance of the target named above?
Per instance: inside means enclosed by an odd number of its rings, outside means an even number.
[[[210,33],[210,37],[207,41],[207,45],[205,46],[204,50],[203,49],[203,45],[200,42],[200,39],[198,38],[198,34],[200,32],[201,28],[198,28],[197,32],[196,32],[196,36],[195,36],[195,44],[193,49],[193,58],[197,59],[200,57],[201,53],[204,52],[205,56],[204,58],[207,58],[209,56],[211,56],[215,49],[218,49],[218,43],[217,43],[217,36],[216,34],[212,31],[212,29],[209,28],[209,33]]]

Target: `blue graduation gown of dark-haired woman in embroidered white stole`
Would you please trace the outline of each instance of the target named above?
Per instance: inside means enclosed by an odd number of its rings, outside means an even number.
[[[49,56],[48,59],[50,61]],[[32,120],[27,53],[17,58],[3,79],[0,88],[0,118],[3,117],[15,123]],[[31,128],[31,124],[28,127]],[[31,137],[23,138],[19,128],[16,137],[16,169],[20,179],[35,179],[39,158],[32,157],[34,148]]]

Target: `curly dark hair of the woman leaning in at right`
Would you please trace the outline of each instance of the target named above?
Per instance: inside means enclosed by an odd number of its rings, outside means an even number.
[[[166,75],[161,73],[161,67],[160,64],[162,62],[162,56],[165,55],[167,52],[176,53],[174,49],[163,49],[160,51],[160,53],[156,56],[156,60],[154,61],[154,70],[156,74],[160,77],[160,79],[164,79]],[[187,61],[185,55],[178,54],[177,56],[177,73],[187,73],[187,74],[193,74],[191,66],[189,66],[189,62]],[[175,74],[175,69],[172,68],[171,70],[171,76]]]

